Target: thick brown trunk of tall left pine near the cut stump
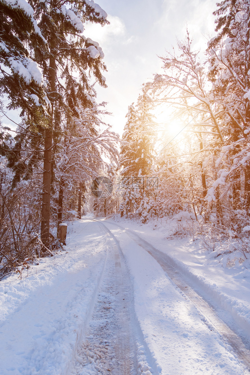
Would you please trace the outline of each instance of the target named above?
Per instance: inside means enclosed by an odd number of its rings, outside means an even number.
[[[49,58],[49,89],[55,92],[55,43],[51,42]],[[52,156],[52,129],[53,129],[53,110],[54,104],[51,103],[50,123],[45,130],[44,139],[44,160],[43,160],[43,192],[42,192],[42,211],[41,211],[41,240],[43,245],[49,249],[49,218],[50,218],[50,196],[51,196],[51,156]],[[42,253],[46,252],[45,248],[41,249]]]

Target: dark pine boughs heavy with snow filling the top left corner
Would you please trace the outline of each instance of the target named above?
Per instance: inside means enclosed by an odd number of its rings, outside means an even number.
[[[46,83],[30,48],[45,49],[45,40],[28,3],[0,1],[0,96],[8,99],[7,108],[21,108],[21,116],[41,121],[48,98]],[[4,111],[1,104],[1,111]]]

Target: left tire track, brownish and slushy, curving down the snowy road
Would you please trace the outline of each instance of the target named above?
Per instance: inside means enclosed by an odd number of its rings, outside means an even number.
[[[143,371],[137,369],[136,349],[140,352],[141,347],[136,348],[131,311],[133,293],[123,255],[112,233],[105,225],[97,223],[110,237],[112,250],[108,251],[88,336],[78,348],[71,374],[142,374]],[[148,370],[143,353],[139,354],[141,367]],[[150,375],[151,372],[143,374]]]

